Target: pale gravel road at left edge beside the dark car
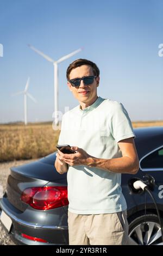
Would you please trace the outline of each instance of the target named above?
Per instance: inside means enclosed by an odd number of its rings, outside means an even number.
[[[20,161],[0,163],[0,196],[1,196],[1,186],[3,187],[3,192],[5,191],[7,178],[10,173],[10,167],[19,166],[21,164],[29,163],[35,160],[20,160]],[[0,223],[0,245],[15,245],[15,243],[11,241],[10,236],[4,231],[1,223]]]

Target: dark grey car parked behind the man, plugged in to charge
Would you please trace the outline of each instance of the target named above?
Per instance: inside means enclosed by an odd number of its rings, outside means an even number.
[[[134,129],[135,145],[140,159],[136,174],[154,176],[153,194],[163,217],[163,127]],[[0,200],[1,222],[17,244],[68,244],[67,174],[54,168],[55,153],[41,160],[12,167],[7,190]],[[137,244],[161,243],[161,232],[154,203],[147,196],[146,222],[149,230],[142,231],[145,222],[145,194],[131,194],[128,180],[122,175],[122,191],[128,205],[129,236]]]

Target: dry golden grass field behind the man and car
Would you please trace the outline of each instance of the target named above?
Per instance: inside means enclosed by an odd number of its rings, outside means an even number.
[[[133,122],[133,127],[163,126],[163,121]],[[36,159],[56,150],[60,130],[52,123],[0,125],[0,162]]]

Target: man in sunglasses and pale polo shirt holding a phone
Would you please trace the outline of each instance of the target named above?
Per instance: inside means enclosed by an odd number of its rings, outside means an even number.
[[[68,66],[67,85],[79,106],[62,118],[55,168],[67,172],[70,245],[126,245],[127,204],[121,173],[139,170],[134,132],[122,103],[97,96],[99,69],[90,60]]]

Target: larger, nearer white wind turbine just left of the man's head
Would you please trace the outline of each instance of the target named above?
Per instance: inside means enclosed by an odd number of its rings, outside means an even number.
[[[64,57],[61,57],[58,60],[53,60],[51,57],[47,56],[43,52],[37,50],[34,46],[29,45],[28,46],[34,50],[36,53],[40,54],[43,58],[48,60],[48,62],[52,62],[54,65],[54,123],[55,125],[58,125],[59,123],[59,118],[58,118],[58,63],[64,61],[65,59],[68,59],[72,57],[74,54],[82,51],[82,48],[79,48],[78,50],[71,52]]]

